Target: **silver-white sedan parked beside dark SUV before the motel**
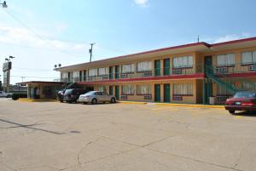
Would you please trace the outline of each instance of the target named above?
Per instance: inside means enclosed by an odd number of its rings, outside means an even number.
[[[101,91],[90,91],[87,94],[82,94],[79,96],[79,102],[81,103],[91,103],[96,104],[99,102],[105,103],[115,103],[115,97],[113,95],[108,95]]]

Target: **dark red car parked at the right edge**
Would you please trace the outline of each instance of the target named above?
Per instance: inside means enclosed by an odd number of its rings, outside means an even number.
[[[230,114],[235,114],[236,111],[256,111],[256,93],[237,92],[232,98],[226,100],[225,109],[230,111]]]

